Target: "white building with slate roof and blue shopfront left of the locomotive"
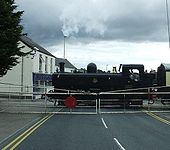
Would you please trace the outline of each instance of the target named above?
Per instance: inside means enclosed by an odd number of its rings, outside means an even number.
[[[0,92],[10,91],[33,96],[31,94],[33,92],[42,93],[53,88],[52,73],[59,68],[60,61],[64,61],[67,71],[73,69],[73,65],[68,60],[56,58],[27,36],[21,37],[19,46],[24,46],[22,51],[30,54],[19,58],[20,63],[0,78]],[[30,94],[24,94],[28,92]]]

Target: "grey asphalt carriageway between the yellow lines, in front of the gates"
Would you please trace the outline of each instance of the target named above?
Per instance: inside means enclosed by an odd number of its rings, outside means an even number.
[[[146,113],[60,114],[45,119],[15,141],[17,150],[170,149],[170,122]]]

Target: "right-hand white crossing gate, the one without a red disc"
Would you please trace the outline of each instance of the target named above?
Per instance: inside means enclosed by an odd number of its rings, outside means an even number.
[[[99,113],[170,112],[170,86],[102,92],[99,97]]]

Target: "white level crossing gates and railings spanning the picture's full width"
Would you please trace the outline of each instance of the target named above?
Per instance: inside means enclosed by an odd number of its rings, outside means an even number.
[[[167,91],[150,91],[145,92],[104,92],[95,94],[96,98],[92,99],[77,99],[78,105],[75,108],[69,109],[64,105],[65,99],[53,99],[46,95],[45,92],[29,92],[33,88],[42,87],[29,87],[27,91],[20,92],[21,86],[0,87],[0,112],[11,113],[58,113],[58,114],[97,114],[97,113],[115,113],[115,112],[141,112],[145,111],[170,111],[170,99],[166,99],[165,104],[162,102],[165,99],[159,98],[163,95],[170,96],[169,89]],[[52,93],[59,94],[59,93]],[[63,94],[63,93],[61,93]],[[68,91],[66,95],[76,95]],[[88,97],[87,93],[77,93],[82,96]],[[92,93],[91,93],[92,94]],[[105,97],[106,95],[106,97]],[[121,96],[120,96],[121,95]],[[144,97],[143,99],[131,99],[129,96]],[[149,99],[150,95],[157,95],[155,99]],[[116,99],[116,96],[121,98]],[[102,98],[103,97],[103,98]]]

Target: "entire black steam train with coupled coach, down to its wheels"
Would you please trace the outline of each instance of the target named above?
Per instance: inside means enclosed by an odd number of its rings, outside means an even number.
[[[60,63],[60,71],[52,75],[52,84],[54,91],[47,96],[54,100],[54,105],[58,101],[59,105],[74,108],[76,100],[91,103],[96,99],[111,99],[111,103],[127,106],[142,105],[144,99],[150,101],[155,97],[164,104],[170,99],[170,65],[161,64],[157,72],[147,73],[142,64],[123,64],[118,72],[109,73],[97,70],[97,66],[90,63],[83,72],[67,73],[64,63]]]

